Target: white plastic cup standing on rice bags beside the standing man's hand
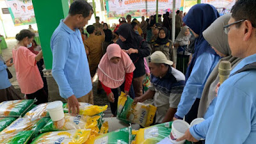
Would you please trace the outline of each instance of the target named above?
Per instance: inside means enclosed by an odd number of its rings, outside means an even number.
[[[61,102],[60,100],[50,102],[46,106],[46,110],[48,111],[53,122],[59,121],[64,118],[64,111],[62,106],[63,102]]]

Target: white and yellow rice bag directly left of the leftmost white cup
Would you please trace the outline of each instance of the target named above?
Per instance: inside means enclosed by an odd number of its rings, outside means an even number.
[[[26,113],[24,116],[25,118],[43,118],[43,117],[49,117],[49,113],[46,111],[46,106],[48,103],[39,104],[38,106],[35,106],[35,108],[31,109]]]

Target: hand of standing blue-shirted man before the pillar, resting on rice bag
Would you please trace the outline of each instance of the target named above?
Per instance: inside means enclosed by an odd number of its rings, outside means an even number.
[[[76,116],[79,114],[79,106],[80,104],[75,95],[68,97],[68,113],[71,114],[72,112],[72,116]]]

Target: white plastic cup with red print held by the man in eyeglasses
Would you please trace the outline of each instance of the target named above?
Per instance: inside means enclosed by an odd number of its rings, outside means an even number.
[[[173,144],[182,144],[186,140],[183,141],[176,141],[178,138],[181,138],[185,135],[185,132],[189,129],[190,125],[188,122],[185,122],[184,120],[175,120],[172,123],[172,131],[170,136],[170,141]]]

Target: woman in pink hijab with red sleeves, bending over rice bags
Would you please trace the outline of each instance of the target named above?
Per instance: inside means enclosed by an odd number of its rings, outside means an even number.
[[[98,76],[104,91],[107,93],[110,102],[111,112],[116,115],[118,88],[121,88],[126,95],[131,97],[131,83],[134,64],[128,54],[120,48],[118,44],[111,44],[107,48],[106,54],[99,63]],[[131,88],[132,89],[132,88]]]

